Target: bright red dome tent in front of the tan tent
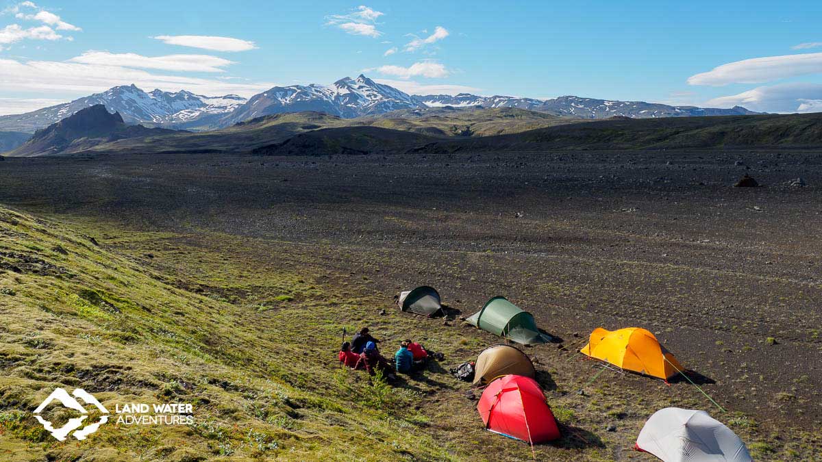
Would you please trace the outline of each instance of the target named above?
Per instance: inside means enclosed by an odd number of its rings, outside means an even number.
[[[492,432],[531,444],[560,437],[556,420],[537,381],[523,376],[502,376],[483,391],[477,404],[485,427]]]

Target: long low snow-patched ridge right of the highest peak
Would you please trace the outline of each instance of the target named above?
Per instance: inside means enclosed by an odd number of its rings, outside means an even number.
[[[630,118],[687,117],[706,115],[745,115],[755,112],[735,106],[732,109],[697,108],[695,106],[669,106],[644,101],[609,101],[607,99],[560,96],[554,99],[517,98],[514,96],[477,96],[468,93],[451,95],[414,96],[428,107],[452,106],[455,108],[519,108],[579,118]]]

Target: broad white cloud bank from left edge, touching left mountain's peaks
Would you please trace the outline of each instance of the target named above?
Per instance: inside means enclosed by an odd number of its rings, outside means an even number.
[[[242,96],[256,95],[275,85],[267,82],[232,83],[218,79],[168,76],[128,67],[81,62],[21,62],[0,58],[0,92],[30,91],[46,98],[51,95],[77,97],[132,83],[144,89],[189,90],[199,95],[233,93]]]

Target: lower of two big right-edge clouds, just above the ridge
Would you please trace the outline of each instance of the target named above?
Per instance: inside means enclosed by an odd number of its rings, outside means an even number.
[[[798,113],[822,110],[822,84],[786,83],[760,86],[738,95],[722,96],[708,101],[711,106],[727,108],[744,106],[752,111]]]

